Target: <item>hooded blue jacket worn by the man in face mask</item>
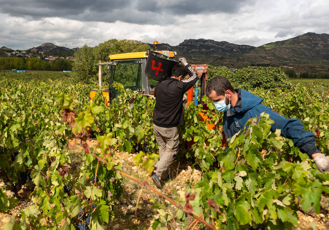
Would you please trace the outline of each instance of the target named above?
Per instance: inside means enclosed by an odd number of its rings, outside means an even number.
[[[223,129],[227,138],[231,138],[239,132],[250,118],[259,117],[261,113],[265,112],[274,121],[271,127],[272,132],[281,129],[281,136],[292,139],[293,144],[309,156],[320,152],[315,146],[315,135],[305,131],[304,125],[299,119],[288,119],[273,112],[269,107],[261,104],[262,98],[248,91],[243,89],[236,89],[236,91],[239,94],[240,102],[224,112],[223,116]]]

